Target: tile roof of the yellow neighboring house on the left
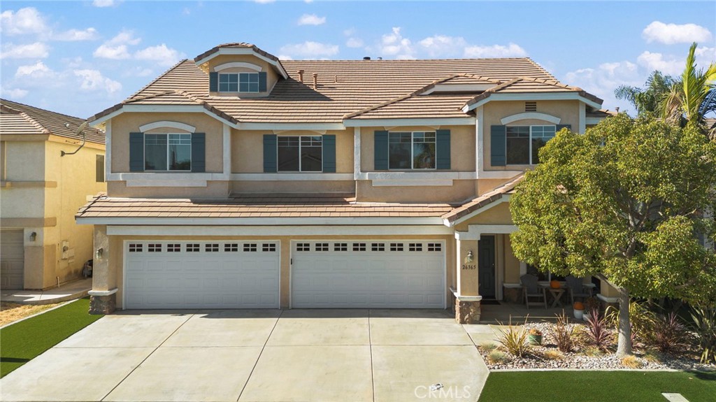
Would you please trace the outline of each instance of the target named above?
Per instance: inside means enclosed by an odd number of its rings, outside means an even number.
[[[84,120],[79,117],[0,99],[2,134],[54,134],[59,137],[82,139],[81,136],[75,135],[82,122]],[[65,124],[69,124],[69,127]],[[105,143],[105,132],[100,129],[85,127],[84,135],[89,142]]]

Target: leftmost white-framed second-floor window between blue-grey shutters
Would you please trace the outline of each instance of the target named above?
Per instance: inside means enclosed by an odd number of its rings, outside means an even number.
[[[144,134],[144,170],[191,170],[191,134]]]

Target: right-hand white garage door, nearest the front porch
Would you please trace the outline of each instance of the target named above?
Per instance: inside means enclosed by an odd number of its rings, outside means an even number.
[[[445,308],[440,241],[306,241],[291,247],[291,307]]]

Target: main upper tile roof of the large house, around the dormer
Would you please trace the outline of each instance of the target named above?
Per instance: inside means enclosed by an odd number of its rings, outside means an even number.
[[[234,44],[248,47],[250,44]],[[218,47],[209,52],[218,51]],[[255,46],[254,46],[255,47]],[[205,57],[205,54],[198,58]],[[183,60],[123,103],[158,104],[158,94],[183,92],[190,99],[211,104],[238,122],[328,122],[340,123],[344,115],[375,107],[402,97],[410,97],[440,80],[466,80],[470,83],[508,82],[516,77],[555,82],[555,78],[528,58],[521,59],[452,59],[452,60],[309,60],[281,61],[288,79],[276,83],[271,94],[260,98],[210,97],[208,76],[193,61]],[[298,71],[304,70],[304,82]],[[313,88],[312,74],[318,87]],[[483,82],[484,81],[484,82]],[[465,82],[461,82],[465,83]],[[171,102],[187,102],[165,97]],[[445,100],[437,99],[435,100]],[[188,103],[187,103],[188,104]],[[453,114],[435,104],[436,113]],[[121,104],[96,114],[99,119]],[[464,114],[463,114],[464,116]]]

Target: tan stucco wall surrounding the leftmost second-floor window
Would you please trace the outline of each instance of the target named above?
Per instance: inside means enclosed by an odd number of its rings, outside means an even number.
[[[122,113],[112,119],[113,173],[130,171],[130,132],[140,132],[144,124],[163,121],[189,124],[196,127],[195,132],[206,133],[206,172],[223,172],[223,124],[217,119],[203,113]]]

